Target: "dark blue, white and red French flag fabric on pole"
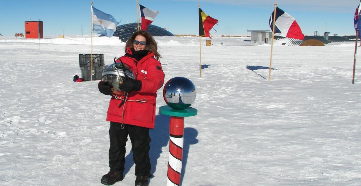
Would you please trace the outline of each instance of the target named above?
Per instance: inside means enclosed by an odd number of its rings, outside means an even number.
[[[271,14],[269,25],[273,31],[273,16],[274,11]],[[296,19],[287,14],[280,8],[276,8],[276,19],[274,34],[282,37],[290,37],[293,39],[303,40],[305,36],[302,34],[301,28],[296,22]]]

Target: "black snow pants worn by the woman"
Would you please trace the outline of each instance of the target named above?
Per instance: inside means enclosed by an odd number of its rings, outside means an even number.
[[[135,125],[110,122],[109,137],[109,167],[110,172],[123,173],[125,164],[125,146],[128,135],[132,143],[133,160],[136,176],[151,176],[151,163],[149,161],[149,128]]]

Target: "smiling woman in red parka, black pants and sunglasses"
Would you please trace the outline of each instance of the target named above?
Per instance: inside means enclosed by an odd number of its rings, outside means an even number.
[[[99,91],[112,95],[106,120],[110,121],[109,173],[101,183],[113,185],[123,180],[125,145],[127,136],[132,143],[135,163],[135,185],[147,185],[152,175],[149,161],[149,129],[154,128],[157,90],[163,86],[164,73],[152,35],[140,30],[135,32],[125,45],[125,55],[116,62],[128,66],[135,80],[127,78],[119,85],[123,94],[113,93],[112,86],[100,81]]]

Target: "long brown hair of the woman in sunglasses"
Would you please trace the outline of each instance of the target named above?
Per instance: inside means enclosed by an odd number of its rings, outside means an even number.
[[[157,42],[154,40],[153,36],[149,34],[147,31],[139,30],[134,32],[134,34],[128,39],[127,43],[125,44],[125,52],[127,52],[127,48],[133,48],[133,41],[135,40],[135,37],[141,35],[145,37],[145,41],[147,42],[147,45],[145,45],[145,50],[149,50],[154,53],[154,56],[159,61],[162,56],[158,53],[158,46]]]

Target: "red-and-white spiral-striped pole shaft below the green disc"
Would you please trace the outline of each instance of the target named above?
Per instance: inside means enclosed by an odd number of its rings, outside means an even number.
[[[167,186],[179,186],[181,184],[183,135],[184,117],[170,116]]]

